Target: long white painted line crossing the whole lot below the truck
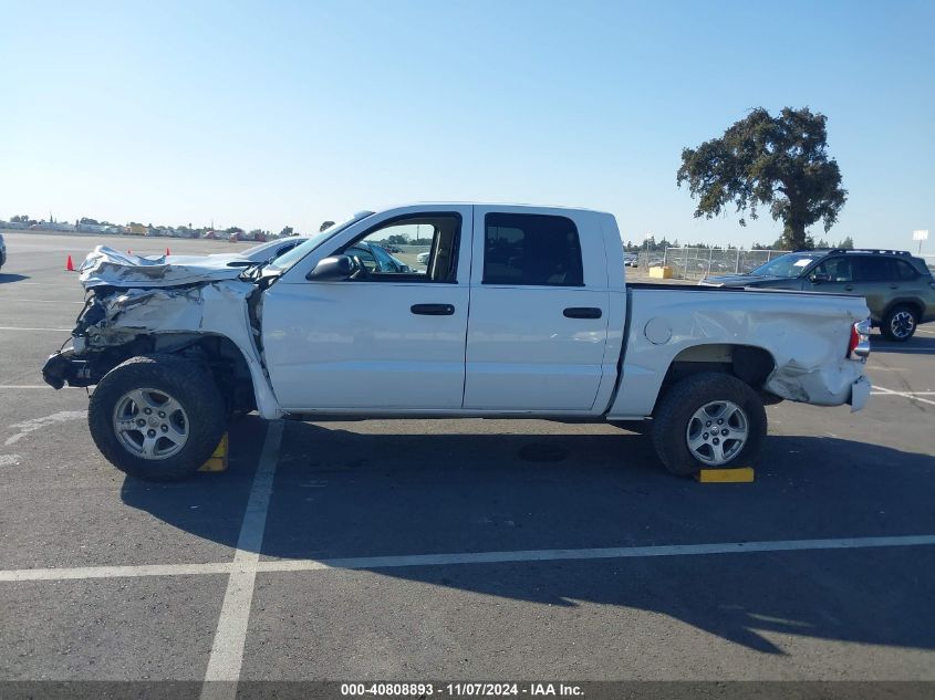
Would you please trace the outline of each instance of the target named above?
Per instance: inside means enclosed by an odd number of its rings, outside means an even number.
[[[831,537],[824,540],[773,540],[720,542],[715,544],[662,544],[652,546],[601,547],[593,550],[523,550],[518,552],[463,552],[458,554],[404,554],[399,556],[355,556],[333,560],[276,560],[257,557],[240,562],[210,564],[158,564],[143,566],[80,566],[75,568],[13,568],[0,571],[0,583],[23,581],[67,581],[79,578],[122,578],[142,576],[191,576],[206,574],[289,573],[332,570],[405,568],[458,564],[512,564],[520,562],[563,562],[575,560],[647,558],[656,556],[705,556],[756,554],[763,552],[814,552],[879,547],[933,546],[935,534],[887,535],[880,537]],[[250,561],[250,560],[256,561]],[[249,610],[247,610],[249,615]],[[243,615],[239,612],[238,615]],[[224,614],[221,615],[224,617]],[[220,628],[220,625],[219,625]],[[216,635],[217,637],[217,635]],[[215,639],[217,646],[217,638]],[[214,654],[212,654],[214,656]],[[209,665],[210,666],[210,665]]]

